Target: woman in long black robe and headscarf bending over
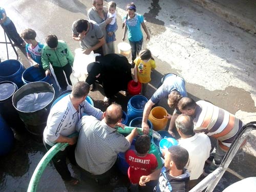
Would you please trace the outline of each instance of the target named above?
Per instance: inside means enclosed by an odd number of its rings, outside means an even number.
[[[96,60],[87,67],[86,82],[101,84],[105,93],[104,104],[109,105],[110,97],[119,91],[127,94],[127,84],[133,79],[131,65],[125,56],[115,53],[96,57]]]

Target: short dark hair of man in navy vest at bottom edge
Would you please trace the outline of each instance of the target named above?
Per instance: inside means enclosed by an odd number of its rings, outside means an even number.
[[[188,161],[188,152],[185,148],[173,145],[168,148],[170,152],[170,159],[175,163],[178,170],[182,170]]]

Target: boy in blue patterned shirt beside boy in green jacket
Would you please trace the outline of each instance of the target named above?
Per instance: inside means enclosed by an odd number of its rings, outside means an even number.
[[[35,40],[36,32],[33,29],[25,29],[22,32],[22,38],[27,42],[26,45],[26,52],[30,63],[34,67],[42,68],[42,48],[44,47],[43,44]]]

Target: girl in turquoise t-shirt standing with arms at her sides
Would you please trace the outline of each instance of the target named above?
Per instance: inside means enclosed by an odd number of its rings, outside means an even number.
[[[128,40],[132,47],[132,66],[134,67],[134,59],[141,51],[143,44],[143,34],[141,27],[146,33],[146,40],[150,40],[150,34],[147,32],[143,15],[136,13],[136,6],[134,3],[127,5],[126,11],[127,14],[123,17],[124,32],[122,40],[125,40],[125,35],[128,31]]]

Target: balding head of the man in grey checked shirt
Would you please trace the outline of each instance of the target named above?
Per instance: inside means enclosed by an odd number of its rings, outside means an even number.
[[[112,103],[106,108],[105,121],[106,124],[116,124],[123,115],[122,107],[120,104]]]

